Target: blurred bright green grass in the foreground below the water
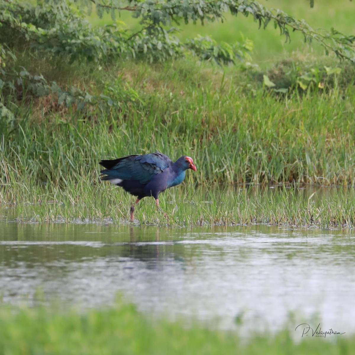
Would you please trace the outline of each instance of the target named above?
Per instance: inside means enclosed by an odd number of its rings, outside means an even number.
[[[186,327],[143,316],[132,305],[60,311],[0,307],[1,354],[354,354],[350,334],[293,340],[292,330],[249,334]],[[334,341],[335,340],[335,341]]]

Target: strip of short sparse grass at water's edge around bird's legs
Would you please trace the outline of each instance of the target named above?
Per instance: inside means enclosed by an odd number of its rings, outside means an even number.
[[[335,189],[315,190],[280,187],[176,187],[160,195],[160,208],[144,198],[135,211],[135,224],[168,226],[281,225],[291,228],[354,228],[355,193]],[[59,223],[129,223],[134,198],[106,182],[91,178],[64,186],[35,181],[6,186],[0,191],[0,220]],[[165,218],[164,213],[167,214]]]

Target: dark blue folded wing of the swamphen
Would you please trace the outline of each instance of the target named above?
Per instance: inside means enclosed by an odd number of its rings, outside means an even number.
[[[144,155],[129,155],[115,160],[102,160],[100,162],[106,174],[103,180],[118,178],[122,180],[136,180],[142,184],[149,182],[154,175],[162,173],[173,162],[162,153],[151,153]]]

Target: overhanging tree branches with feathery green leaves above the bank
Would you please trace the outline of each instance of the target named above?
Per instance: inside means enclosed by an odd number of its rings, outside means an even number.
[[[99,16],[104,12],[110,13],[113,19],[122,11],[132,12],[133,17],[140,18],[141,28],[132,34],[116,24],[94,27],[85,19],[93,10]],[[305,21],[296,20],[280,10],[268,10],[257,1],[46,0],[32,5],[20,0],[0,0],[0,94],[3,97],[18,87],[34,95],[44,95],[49,91],[65,98],[67,105],[76,103],[78,107],[93,99],[90,97],[88,101],[87,95],[78,91],[73,94],[72,89],[58,90],[58,85],[48,83],[40,76],[41,73],[30,75],[26,69],[17,70],[15,66],[9,70],[6,62],[10,59],[15,62],[14,48],[21,46],[57,58],[63,56],[70,61],[108,62],[117,58],[138,58],[154,62],[187,53],[218,64],[248,60],[252,50],[249,40],[234,45],[218,44],[207,37],[182,42],[175,35],[181,21],[223,22],[227,13],[250,16],[259,28],[272,24],[286,41],[290,40],[291,32],[299,31],[305,42],[320,43],[326,54],[334,52],[342,60],[355,62],[355,36],[344,35],[333,28],[330,31],[314,30]],[[104,103],[111,102],[106,97],[103,100]],[[101,102],[102,98],[98,101]],[[5,115],[4,107],[2,104],[0,110]]]

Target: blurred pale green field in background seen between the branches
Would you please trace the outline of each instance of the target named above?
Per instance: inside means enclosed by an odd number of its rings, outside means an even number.
[[[297,1],[282,0],[262,0],[259,2],[268,9],[280,9],[296,19],[304,19],[314,29],[324,28],[329,30],[334,27],[344,34],[355,34],[355,4],[353,2],[347,0],[315,1],[313,9],[309,7],[308,1],[303,1],[302,4]],[[123,21],[127,24],[127,28],[133,32],[140,28],[139,19],[132,18],[131,13],[122,11],[121,17],[117,16],[117,20]],[[100,19],[94,14],[94,11],[90,21],[98,25],[112,23],[110,15],[105,14]],[[312,46],[306,45],[302,35],[299,33],[291,33],[291,43],[285,43],[284,37],[280,36],[279,30],[274,29],[272,23],[269,24],[265,31],[263,29],[259,30],[258,24],[253,21],[252,16],[247,18],[242,15],[233,17],[227,12],[224,23],[210,22],[202,26],[200,23],[185,25],[184,21],[181,21],[180,26],[176,24],[174,26],[181,29],[179,34],[181,39],[196,37],[197,34],[201,34],[203,36],[211,36],[217,42],[224,41],[233,44],[236,41],[241,42],[242,37],[249,38],[255,44],[253,58],[260,64],[263,61],[283,58],[296,50],[308,54],[323,53],[323,49],[317,43],[313,43]]]

